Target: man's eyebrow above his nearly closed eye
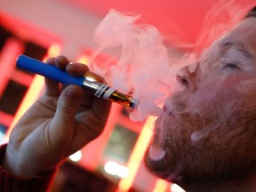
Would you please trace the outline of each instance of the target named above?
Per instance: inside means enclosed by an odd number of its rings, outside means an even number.
[[[252,54],[246,49],[244,44],[231,41],[220,44],[220,55],[224,55],[231,47],[235,47],[237,51],[244,55],[245,58],[253,60]]]

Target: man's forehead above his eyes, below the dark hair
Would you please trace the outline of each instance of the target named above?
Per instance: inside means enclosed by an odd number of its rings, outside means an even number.
[[[228,62],[252,64],[255,60],[256,18],[250,18],[243,20],[236,28],[217,39],[203,52],[199,63],[204,75],[210,71],[217,73]]]

